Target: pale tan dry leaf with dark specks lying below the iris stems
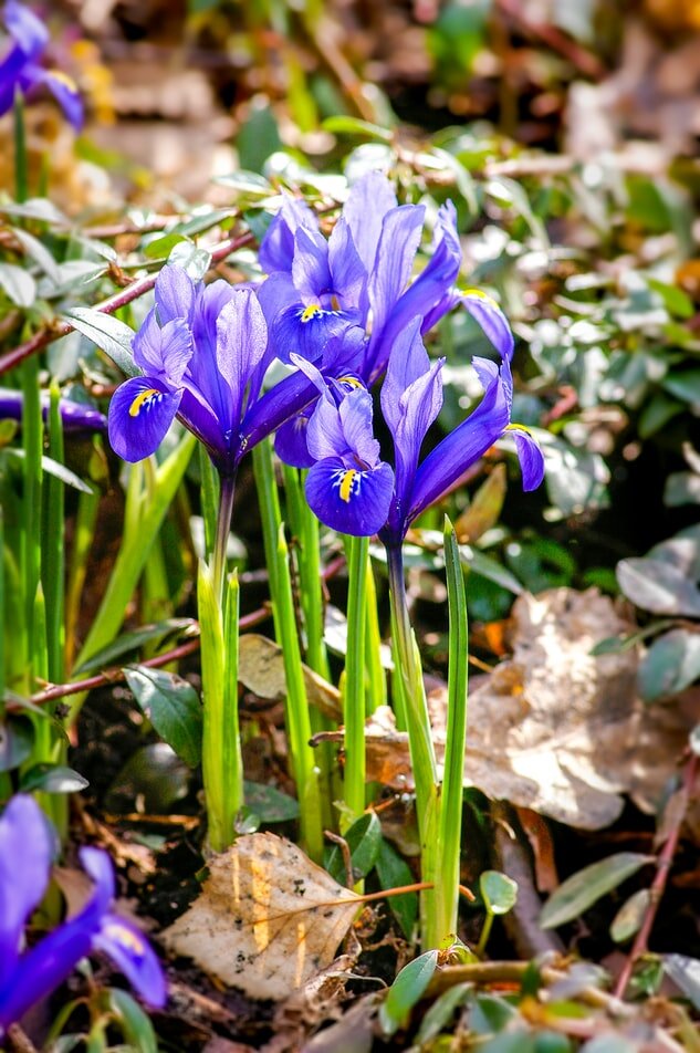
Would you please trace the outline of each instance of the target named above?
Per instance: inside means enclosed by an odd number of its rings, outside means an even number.
[[[362,901],[270,833],[239,837],[209,872],[197,900],[163,938],[251,998],[285,998],[325,969]]]

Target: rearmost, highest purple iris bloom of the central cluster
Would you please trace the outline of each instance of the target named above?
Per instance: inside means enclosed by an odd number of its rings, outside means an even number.
[[[367,334],[357,373],[372,384],[411,319],[420,315],[426,333],[458,303],[501,356],[511,354],[513,337],[498,304],[455,289],[462,254],[451,201],[438,210],[431,257],[411,281],[425,213],[422,205],[399,206],[386,176],[367,173],[352,187],[326,241],[311,209],[286,198],[260,247],[270,274],[260,301],[278,355],[289,359],[294,351],[327,375],[328,336],[357,325]]]

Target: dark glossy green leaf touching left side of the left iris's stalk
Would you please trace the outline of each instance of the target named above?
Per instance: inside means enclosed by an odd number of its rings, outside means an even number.
[[[124,670],[134,698],[160,738],[186,764],[201,759],[201,706],[191,684],[175,673],[132,666]]]

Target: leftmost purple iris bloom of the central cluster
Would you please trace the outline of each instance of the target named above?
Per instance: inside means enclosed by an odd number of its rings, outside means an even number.
[[[115,392],[109,441],[124,460],[142,460],[177,416],[203,442],[218,471],[233,476],[247,449],[303,407],[299,392],[309,382],[288,385],[285,397],[274,388],[261,397],[273,354],[253,290],[224,281],[205,285],[167,265],[155,298],[134,337],[134,361],[144,375]]]

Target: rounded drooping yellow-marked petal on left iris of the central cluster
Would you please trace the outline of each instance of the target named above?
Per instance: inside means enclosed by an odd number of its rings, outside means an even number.
[[[112,449],[123,460],[154,453],[173,424],[182,389],[170,390],[156,377],[136,376],[122,384],[109,403],[107,427]]]

